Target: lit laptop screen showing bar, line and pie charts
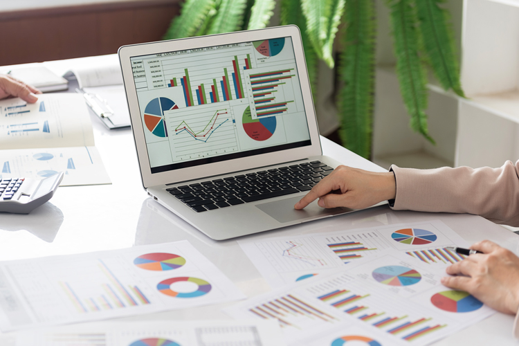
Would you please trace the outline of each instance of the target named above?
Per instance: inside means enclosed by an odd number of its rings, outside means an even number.
[[[152,173],[311,145],[291,37],[131,66]]]

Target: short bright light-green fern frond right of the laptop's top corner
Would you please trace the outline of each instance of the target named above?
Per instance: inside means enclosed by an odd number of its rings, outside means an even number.
[[[335,35],[343,15],[345,0],[302,0],[302,11],[307,18],[310,42],[318,57],[330,68],[334,67],[332,54]]]

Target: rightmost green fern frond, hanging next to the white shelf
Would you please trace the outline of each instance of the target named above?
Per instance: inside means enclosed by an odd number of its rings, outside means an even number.
[[[444,0],[415,0],[420,33],[428,60],[436,78],[445,90],[453,89],[457,95],[465,97],[459,82],[459,66],[454,48],[453,33],[448,24],[448,11],[441,8]]]

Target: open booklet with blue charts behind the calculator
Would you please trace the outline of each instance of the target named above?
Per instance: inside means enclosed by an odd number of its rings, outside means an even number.
[[[111,183],[82,95],[38,95],[0,101],[0,174],[42,179],[65,172],[60,186]]]

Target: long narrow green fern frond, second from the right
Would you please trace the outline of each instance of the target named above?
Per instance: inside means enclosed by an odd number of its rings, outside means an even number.
[[[426,69],[419,57],[418,19],[412,1],[387,1],[391,10],[397,76],[403,103],[411,116],[411,128],[435,143],[429,136],[424,111],[427,108]]]

